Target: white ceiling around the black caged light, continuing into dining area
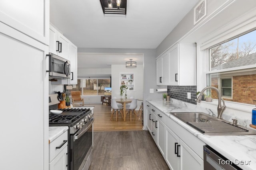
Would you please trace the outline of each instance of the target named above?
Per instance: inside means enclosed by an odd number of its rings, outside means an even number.
[[[127,0],[126,16],[104,16],[100,0],[50,0],[50,22],[80,48],[156,49],[197,2]],[[100,68],[93,66],[88,58],[81,61],[86,58],[78,58],[78,63]],[[108,63],[123,64],[127,58],[127,55],[115,57],[113,61],[108,59]],[[96,64],[102,61],[94,59],[98,61]],[[85,67],[78,64],[78,68],[79,65]]]

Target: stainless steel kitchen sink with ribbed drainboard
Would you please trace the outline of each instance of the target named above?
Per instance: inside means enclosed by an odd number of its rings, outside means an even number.
[[[171,113],[204,135],[256,135],[256,131],[229,121],[217,119],[203,112]]]

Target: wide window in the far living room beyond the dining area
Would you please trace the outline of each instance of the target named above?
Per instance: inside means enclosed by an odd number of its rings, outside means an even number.
[[[110,78],[78,78],[76,88],[82,95],[104,95],[104,88],[110,87]]]

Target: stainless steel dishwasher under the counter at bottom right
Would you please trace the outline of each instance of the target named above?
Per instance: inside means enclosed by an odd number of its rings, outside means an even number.
[[[204,170],[242,170],[208,145],[204,146]]]

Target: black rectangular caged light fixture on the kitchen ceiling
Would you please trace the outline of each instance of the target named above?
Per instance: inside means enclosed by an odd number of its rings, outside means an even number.
[[[126,15],[127,0],[100,0],[104,14]]]

